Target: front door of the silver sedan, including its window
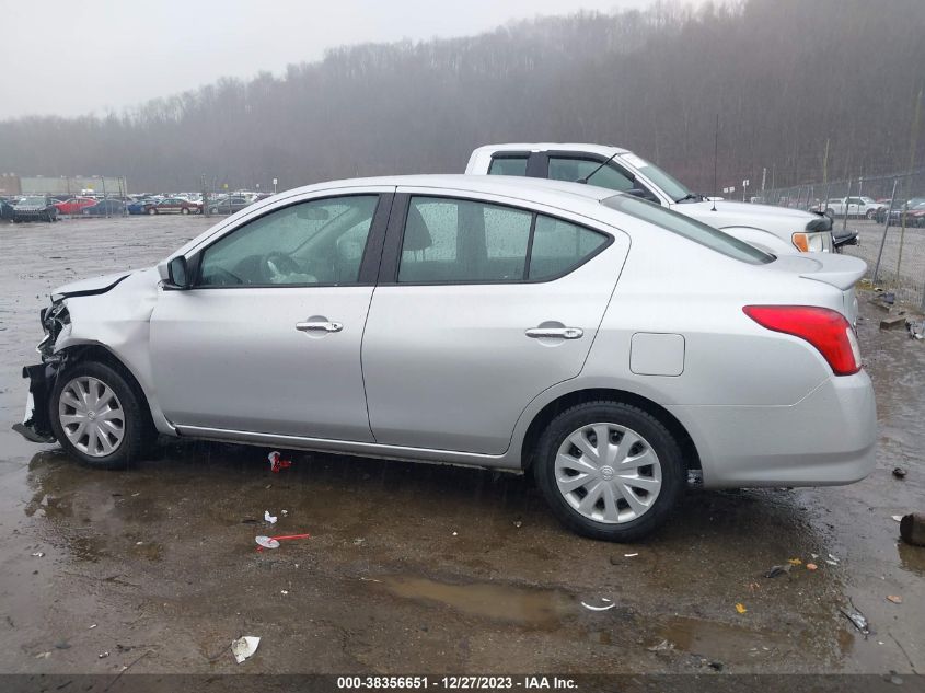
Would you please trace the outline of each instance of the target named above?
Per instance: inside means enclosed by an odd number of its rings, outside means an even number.
[[[167,419],[193,429],[371,441],[360,344],[392,188],[252,215],[187,254],[151,360]]]

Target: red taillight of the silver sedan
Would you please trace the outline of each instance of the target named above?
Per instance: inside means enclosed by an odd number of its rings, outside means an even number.
[[[742,310],[762,327],[809,342],[836,376],[860,370],[857,337],[840,312],[816,305],[745,305]]]

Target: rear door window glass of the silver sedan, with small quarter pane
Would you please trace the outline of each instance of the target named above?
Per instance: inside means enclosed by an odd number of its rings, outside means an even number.
[[[542,281],[603,249],[610,236],[523,209],[412,197],[400,284]]]

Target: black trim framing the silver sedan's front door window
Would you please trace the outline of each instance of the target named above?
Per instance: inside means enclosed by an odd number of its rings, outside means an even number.
[[[375,211],[372,212],[372,221],[370,222],[369,233],[367,235],[366,246],[363,247],[363,255],[360,259],[360,270],[357,277],[357,281],[351,281],[349,284],[230,284],[230,285],[222,285],[222,286],[212,286],[212,285],[200,285],[199,281],[201,279],[201,272],[203,272],[203,258],[205,256],[206,251],[221,241],[222,239],[231,235],[232,233],[236,233],[240,229],[243,229],[254,221],[258,219],[263,219],[271,213],[280,211],[282,209],[288,209],[289,207],[294,207],[296,205],[304,205],[308,203],[315,203],[321,200],[329,200],[336,199],[339,197],[378,197],[375,203]],[[377,275],[379,273],[379,264],[382,256],[382,246],[385,242],[385,229],[389,223],[389,217],[391,215],[393,200],[395,198],[394,193],[386,193],[386,192],[378,192],[378,190],[367,190],[363,192],[361,189],[351,189],[350,192],[337,192],[334,195],[320,195],[317,197],[311,198],[302,198],[302,199],[293,199],[292,201],[280,205],[279,207],[274,207],[273,209],[266,210],[266,212],[247,219],[241,224],[235,226],[233,229],[229,230],[227,233],[221,233],[217,235],[215,239],[210,240],[208,244],[199,247],[196,250],[193,255],[189,257],[188,265],[193,267],[193,286],[188,291],[216,291],[216,290],[223,290],[223,289],[321,289],[321,288],[333,288],[333,287],[374,287],[377,281]]]

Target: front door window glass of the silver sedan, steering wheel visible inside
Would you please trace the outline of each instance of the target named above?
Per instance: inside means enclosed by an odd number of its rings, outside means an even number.
[[[250,221],[206,249],[199,286],[357,284],[378,201],[310,200]]]

